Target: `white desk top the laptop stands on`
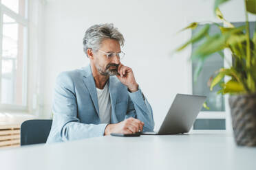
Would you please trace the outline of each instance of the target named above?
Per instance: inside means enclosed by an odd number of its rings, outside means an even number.
[[[104,136],[0,150],[0,169],[256,169],[256,148],[231,135]]]

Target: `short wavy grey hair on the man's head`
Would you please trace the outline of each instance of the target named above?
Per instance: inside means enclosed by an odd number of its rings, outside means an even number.
[[[112,23],[93,25],[87,29],[83,38],[83,50],[86,55],[87,49],[98,49],[105,38],[118,40],[121,46],[125,42],[125,38]]]

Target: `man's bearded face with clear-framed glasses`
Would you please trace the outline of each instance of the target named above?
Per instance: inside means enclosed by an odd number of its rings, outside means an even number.
[[[100,51],[99,51],[100,50]],[[105,39],[101,42],[98,51],[94,52],[93,63],[100,75],[116,75],[120,60],[118,56],[107,58],[105,53],[118,53],[121,51],[118,40]],[[104,53],[104,52],[105,53]]]

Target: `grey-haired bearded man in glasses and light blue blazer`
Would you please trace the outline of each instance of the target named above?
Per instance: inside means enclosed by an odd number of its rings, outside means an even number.
[[[124,41],[113,24],[87,29],[83,46],[90,64],[56,78],[47,143],[153,131],[151,106],[132,69],[120,62]]]

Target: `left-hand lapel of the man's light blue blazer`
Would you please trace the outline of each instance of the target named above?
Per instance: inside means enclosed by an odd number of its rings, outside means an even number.
[[[97,114],[99,115],[98,111],[98,97],[97,97],[97,91],[96,86],[94,82],[94,77],[92,76],[91,71],[91,65],[86,66],[84,68],[85,74],[83,76],[83,82],[85,83],[85,86],[87,86],[89,94],[92,98],[92,101],[94,103],[94,108],[96,109]]]

